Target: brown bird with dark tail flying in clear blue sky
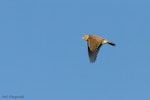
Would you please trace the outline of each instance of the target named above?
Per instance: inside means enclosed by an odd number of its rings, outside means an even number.
[[[108,43],[112,46],[115,46],[114,43],[95,35],[84,35],[82,39],[87,41],[88,54],[91,63],[96,61],[98,51],[103,44]]]

